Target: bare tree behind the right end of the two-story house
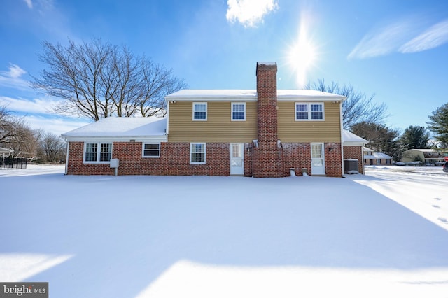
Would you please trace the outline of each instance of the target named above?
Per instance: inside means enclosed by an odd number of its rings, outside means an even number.
[[[334,82],[331,85],[325,85],[324,80],[318,80],[317,83],[312,83],[307,88],[344,95],[346,97],[346,100],[342,104],[344,129],[350,129],[350,127],[359,122],[381,124],[388,117],[386,115],[386,105],[384,103],[375,103],[373,101],[374,94],[366,97],[363,92],[354,90],[351,85],[339,86]]]

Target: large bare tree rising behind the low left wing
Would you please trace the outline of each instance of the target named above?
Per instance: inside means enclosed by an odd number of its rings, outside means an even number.
[[[55,108],[59,113],[95,121],[111,115],[165,114],[165,95],[188,87],[171,69],[100,39],[80,45],[69,40],[66,46],[45,41],[43,48],[39,57],[48,70],[31,85],[64,99]]]

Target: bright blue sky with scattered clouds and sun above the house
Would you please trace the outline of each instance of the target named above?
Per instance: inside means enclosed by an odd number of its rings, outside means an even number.
[[[448,102],[448,1],[3,0],[0,104],[31,128],[62,134],[88,122],[49,112],[29,89],[41,43],[102,38],[173,69],[192,89],[255,89],[257,61],[278,87],[351,84],[384,102],[386,125],[427,126]]]

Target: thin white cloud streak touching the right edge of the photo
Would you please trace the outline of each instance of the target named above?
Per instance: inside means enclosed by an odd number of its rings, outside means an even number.
[[[448,20],[439,22],[400,47],[399,52],[421,52],[448,42]]]

